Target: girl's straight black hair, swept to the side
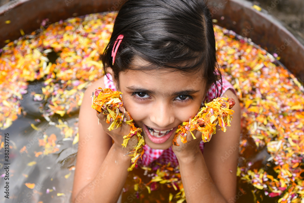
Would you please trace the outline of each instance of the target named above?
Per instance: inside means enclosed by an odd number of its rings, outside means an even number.
[[[123,40],[112,64],[112,49],[119,35]],[[132,66],[140,58],[144,67]],[[102,56],[119,81],[121,71],[164,69],[185,74],[201,71],[209,88],[221,79],[209,9],[203,0],[129,0],[119,10],[113,33]],[[222,88],[217,88],[217,97]]]

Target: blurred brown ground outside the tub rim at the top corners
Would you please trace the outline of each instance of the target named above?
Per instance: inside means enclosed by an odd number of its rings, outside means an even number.
[[[0,0],[0,6],[11,0]],[[249,0],[268,11],[291,31],[304,45],[303,0]]]

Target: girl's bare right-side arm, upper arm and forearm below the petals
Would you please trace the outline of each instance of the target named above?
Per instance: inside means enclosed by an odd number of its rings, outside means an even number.
[[[227,90],[224,95],[236,102],[232,108],[234,114],[231,126],[227,127],[226,132],[219,130],[212,136],[210,142],[205,144],[204,155],[198,144],[187,153],[176,153],[189,203],[230,202],[236,194],[240,104],[232,91]],[[192,142],[188,145],[192,145]],[[225,157],[226,152],[229,157]]]

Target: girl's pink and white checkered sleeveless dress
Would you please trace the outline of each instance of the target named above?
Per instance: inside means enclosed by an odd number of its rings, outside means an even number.
[[[110,88],[112,91],[116,91],[116,87],[114,86],[114,83],[112,82],[112,76],[108,73],[108,77],[104,77],[104,82],[105,82],[105,88]],[[220,97],[223,96],[223,94],[228,90],[231,89],[234,93],[235,90],[233,86],[228,82],[225,78],[222,78],[223,81],[223,92],[220,95]],[[218,81],[216,83],[217,86],[220,87],[220,82]],[[213,84],[211,88],[208,90],[205,100],[204,101],[211,101],[216,97],[216,86]],[[204,103],[202,102],[202,104]],[[204,150],[204,143],[200,142],[199,147],[201,151],[203,152]],[[178,160],[172,151],[172,148],[170,147],[169,149],[166,150],[155,150],[151,149],[148,145],[144,145],[143,149],[145,150],[143,154],[143,159],[138,160],[138,164],[141,166],[151,166],[151,163],[154,161],[157,161],[158,163],[161,163],[162,165],[168,164],[170,162],[170,166],[176,167],[178,166]]]

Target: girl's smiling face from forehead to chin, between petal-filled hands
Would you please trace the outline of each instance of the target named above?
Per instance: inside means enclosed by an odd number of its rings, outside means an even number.
[[[172,145],[178,125],[196,115],[206,95],[200,73],[186,76],[165,70],[121,72],[119,91],[146,144],[162,150]]]

